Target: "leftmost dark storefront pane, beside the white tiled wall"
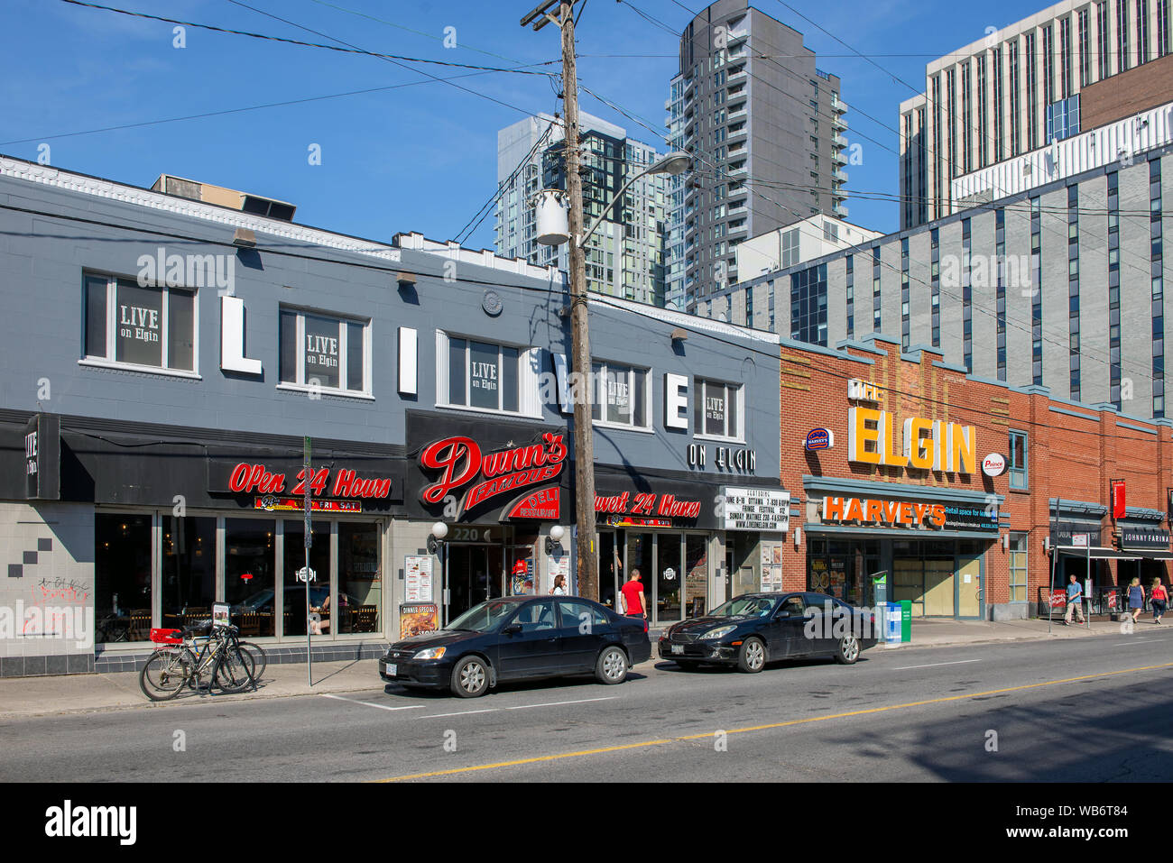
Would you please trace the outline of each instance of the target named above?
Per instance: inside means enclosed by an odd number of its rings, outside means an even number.
[[[151,624],[151,517],[99,514],[94,538],[96,640],[145,641]]]

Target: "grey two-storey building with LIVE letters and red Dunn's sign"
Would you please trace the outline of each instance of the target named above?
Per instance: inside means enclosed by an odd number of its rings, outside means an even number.
[[[133,668],[217,603],[304,659],[306,492],[316,659],[574,590],[556,270],[0,157],[0,675]],[[780,585],[786,514],[725,504],[784,491],[778,345],[591,300],[602,600],[636,566],[653,625]]]

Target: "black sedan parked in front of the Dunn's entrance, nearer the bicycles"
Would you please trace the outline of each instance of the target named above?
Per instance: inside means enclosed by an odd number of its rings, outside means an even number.
[[[582,597],[504,597],[474,606],[445,628],[391,645],[379,677],[408,687],[483,695],[504,680],[594,673],[622,684],[651,659],[647,624]]]

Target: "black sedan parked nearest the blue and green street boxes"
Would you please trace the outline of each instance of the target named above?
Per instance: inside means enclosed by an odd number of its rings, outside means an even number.
[[[823,593],[746,593],[670,626],[659,654],[682,668],[735,665],[751,674],[775,659],[834,657],[850,665],[876,644],[870,612]]]

